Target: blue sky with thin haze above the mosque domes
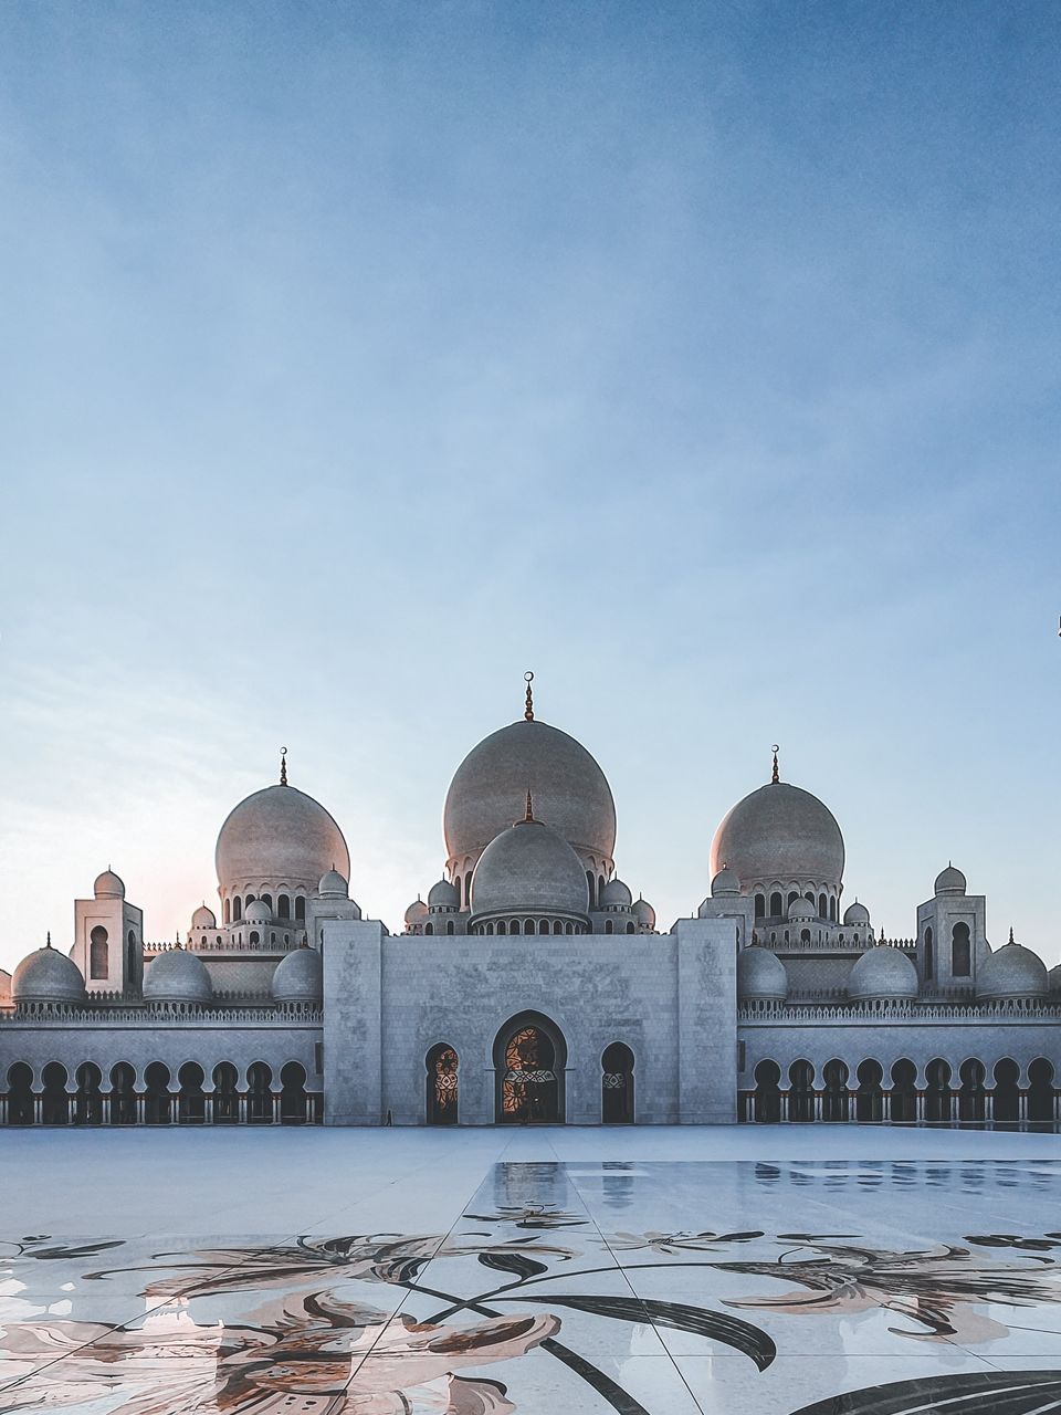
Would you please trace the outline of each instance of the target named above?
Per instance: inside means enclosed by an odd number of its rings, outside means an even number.
[[[1061,11],[0,8],[0,965],[274,778],[392,925],[539,715],[663,924],[782,774],[1061,957]],[[23,907],[25,901],[25,907]]]

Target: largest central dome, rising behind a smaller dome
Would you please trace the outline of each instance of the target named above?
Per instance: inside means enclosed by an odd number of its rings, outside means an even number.
[[[580,855],[610,862],[615,802],[607,777],[574,737],[545,722],[514,722],[457,767],[443,831],[450,860],[477,856],[509,829],[530,791],[535,808]]]

